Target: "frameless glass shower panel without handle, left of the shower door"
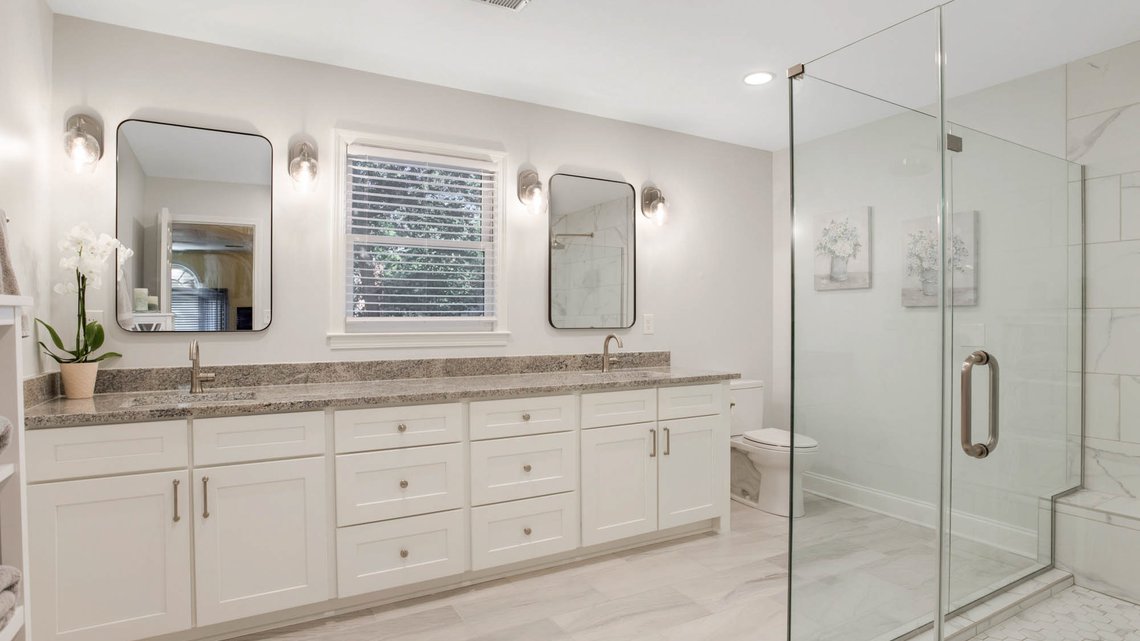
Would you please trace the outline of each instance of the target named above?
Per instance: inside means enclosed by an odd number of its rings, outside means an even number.
[[[795,641],[893,639],[936,616],[943,317],[904,287],[905,232],[939,211],[937,42],[930,11],[790,83],[793,429],[819,441],[793,459]]]

